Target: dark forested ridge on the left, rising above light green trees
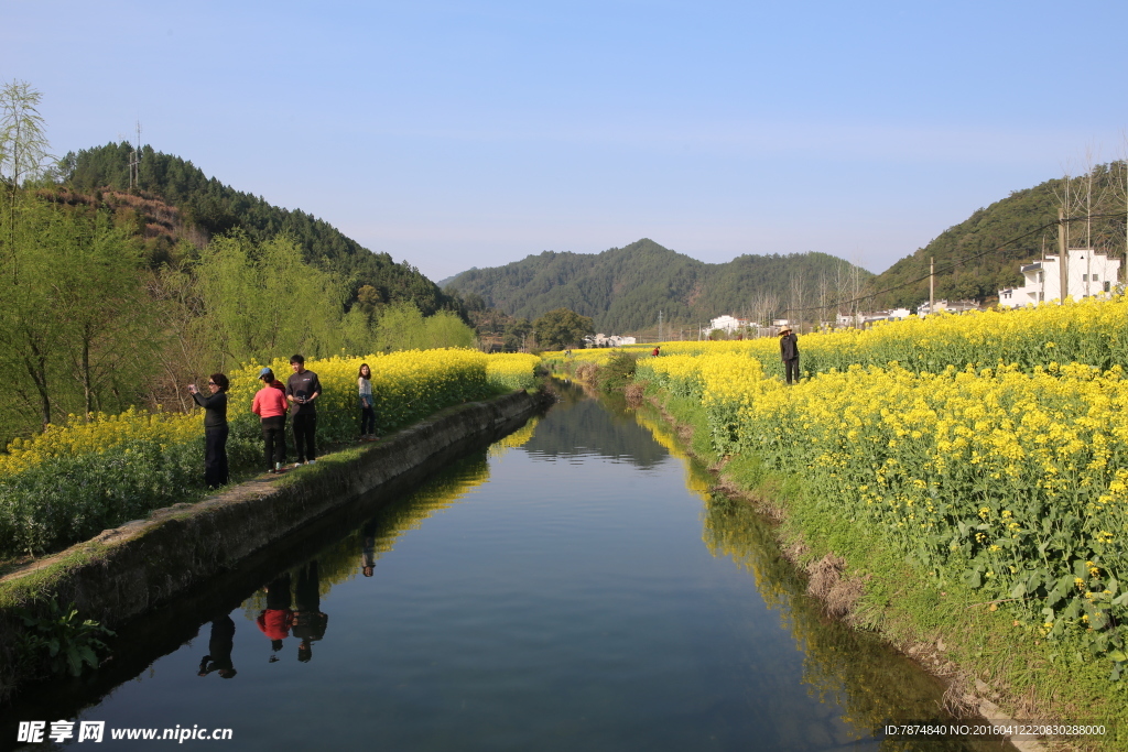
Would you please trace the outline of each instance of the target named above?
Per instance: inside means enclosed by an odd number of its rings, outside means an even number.
[[[62,178],[73,191],[127,191],[130,186],[129,143],[70,152],[62,160]],[[178,207],[185,222],[208,238],[243,230],[263,241],[279,233],[292,237],[305,260],[316,264],[347,284],[350,301],[364,285],[373,287],[379,302],[413,301],[424,315],[456,302],[413,266],[395,263],[388,254],[373,254],[342,235],[328,222],[301,210],[280,209],[261,196],[236,191],[209,178],[192,162],[179,157],[141,150],[140,192]],[[369,297],[371,293],[368,293]]]

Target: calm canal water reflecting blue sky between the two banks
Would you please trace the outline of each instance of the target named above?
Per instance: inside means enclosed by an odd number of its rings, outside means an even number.
[[[562,387],[413,493],[283,541],[0,718],[230,750],[943,750],[942,688],[826,619],[768,525],[643,413]],[[56,745],[33,745],[49,749]],[[976,749],[987,749],[986,746]],[[996,747],[997,749],[997,747]]]

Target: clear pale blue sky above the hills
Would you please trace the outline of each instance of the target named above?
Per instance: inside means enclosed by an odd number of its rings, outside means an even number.
[[[3,0],[52,151],[132,140],[432,280],[640,238],[881,272],[1120,158],[1094,0]]]

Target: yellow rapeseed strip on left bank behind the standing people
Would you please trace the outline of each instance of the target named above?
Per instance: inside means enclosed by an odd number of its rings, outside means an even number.
[[[387,433],[450,405],[532,384],[538,359],[472,350],[407,351],[308,361],[318,398],[321,442],[355,439],[361,363],[372,371],[377,431]],[[290,364],[268,364],[285,381]],[[231,382],[228,455],[232,467],[261,461],[258,418],[250,413],[259,363],[228,373]],[[69,416],[0,454],[0,556],[38,552],[184,501],[202,488],[200,412],[180,415],[130,409],[121,415]]]

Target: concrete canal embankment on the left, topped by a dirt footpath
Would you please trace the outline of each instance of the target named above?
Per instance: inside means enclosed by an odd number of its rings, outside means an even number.
[[[460,405],[379,443],[335,452],[196,504],[158,510],[3,577],[0,701],[35,671],[19,663],[20,609],[45,612],[52,600],[73,602],[82,618],[116,628],[199,590],[272,543],[318,527],[361,496],[402,489],[473,444],[519,427],[545,399],[519,391]]]

